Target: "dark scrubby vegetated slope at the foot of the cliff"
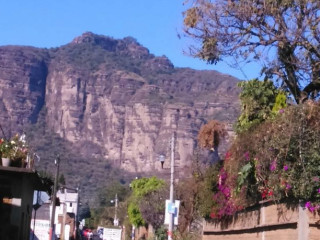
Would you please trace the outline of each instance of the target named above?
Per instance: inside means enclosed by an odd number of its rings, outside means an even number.
[[[80,188],[82,202],[96,205],[99,188],[112,189],[114,184],[125,184],[131,175],[112,167],[111,163],[90,156],[79,155],[79,150],[71,142],[53,133],[45,122],[45,109],[38,122],[25,127],[28,145],[39,156],[35,167],[42,175],[53,179],[56,172],[55,159],[60,157],[59,185]],[[128,185],[128,184],[127,184]],[[118,193],[121,198],[121,192]],[[106,196],[106,197],[109,197]],[[103,201],[100,199],[99,201]],[[98,204],[102,204],[101,202]]]

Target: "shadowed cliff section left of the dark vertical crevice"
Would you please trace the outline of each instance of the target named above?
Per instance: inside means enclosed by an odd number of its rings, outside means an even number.
[[[0,122],[7,135],[37,121],[45,102],[47,59],[41,49],[0,48]]]

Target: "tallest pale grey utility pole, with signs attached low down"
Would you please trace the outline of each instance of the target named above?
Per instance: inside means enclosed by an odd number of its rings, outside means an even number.
[[[173,199],[173,183],[174,183],[174,136],[172,134],[171,138],[171,177],[170,177],[170,202],[169,209],[174,207],[174,199]],[[174,211],[170,209],[169,211],[169,230],[168,230],[168,240],[173,239],[173,225],[174,225]]]

